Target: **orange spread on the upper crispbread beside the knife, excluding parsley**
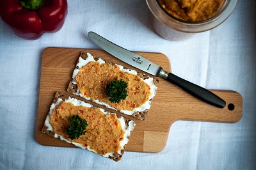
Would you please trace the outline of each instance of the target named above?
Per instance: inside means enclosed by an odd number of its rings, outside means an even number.
[[[127,87],[127,98],[119,103],[111,103],[106,95],[106,84],[113,80],[123,79]],[[91,100],[99,100],[118,110],[132,111],[143,105],[150,96],[150,86],[138,75],[122,72],[117,65],[100,64],[91,61],[84,65],[77,74],[75,81],[82,95]]]

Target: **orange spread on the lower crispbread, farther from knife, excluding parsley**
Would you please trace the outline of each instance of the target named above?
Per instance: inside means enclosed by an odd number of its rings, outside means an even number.
[[[67,135],[67,127],[71,124],[69,118],[74,115],[87,121],[86,133],[78,139],[71,140]],[[116,114],[104,114],[99,108],[75,106],[62,101],[52,112],[50,123],[54,133],[68,141],[90,146],[100,155],[116,152],[121,149],[120,141],[124,140],[124,130]]]

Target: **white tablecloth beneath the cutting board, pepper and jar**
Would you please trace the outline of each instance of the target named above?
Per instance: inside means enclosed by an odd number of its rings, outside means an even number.
[[[0,20],[0,169],[255,169],[255,1],[239,1],[219,27],[183,42],[158,36],[149,13],[144,0],[68,0],[63,28],[35,41],[15,36]],[[35,133],[42,51],[99,49],[88,31],[132,51],[161,52],[173,73],[204,88],[237,91],[243,118],[234,124],[177,121],[163,151],[127,151],[120,162],[76,148],[41,146]]]

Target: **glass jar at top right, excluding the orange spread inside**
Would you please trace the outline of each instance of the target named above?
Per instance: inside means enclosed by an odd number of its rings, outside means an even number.
[[[196,33],[213,29],[224,22],[234,11],[237,0],[225,0],[220,10],[210,19],[191,22],[176,19],[166,12],[157,0],[146,0],[150,9],[150,22],[155,31],[166,40],[181,41],[187,40]]]

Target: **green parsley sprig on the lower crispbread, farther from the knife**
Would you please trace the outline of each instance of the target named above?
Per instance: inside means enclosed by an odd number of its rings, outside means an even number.
[[[82,120],[79,115],[71,116],[69,120],[71,121],[71,125],[67,128],[67,134],[70,139],[78,139],[80,135],[85,134],[86,120]]]

